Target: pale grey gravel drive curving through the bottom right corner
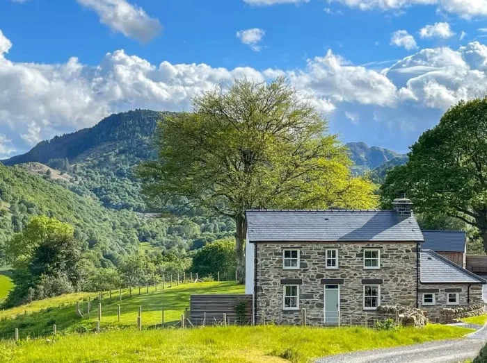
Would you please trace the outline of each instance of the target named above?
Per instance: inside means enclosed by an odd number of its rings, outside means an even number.
[[[375,349],[320,358],[317,363],[457,363],[477,357],[487,341],[487,326],[464,339]]]

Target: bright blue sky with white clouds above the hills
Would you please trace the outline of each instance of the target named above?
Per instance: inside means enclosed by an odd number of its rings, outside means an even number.
[[[0,158],[287,76],[343,142],[407,152],[487,94],[487,0],[0,0]]]

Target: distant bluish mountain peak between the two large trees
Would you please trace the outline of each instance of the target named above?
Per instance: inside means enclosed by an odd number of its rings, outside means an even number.
[[[391,160],[396,160],[393,162],[396,164],[404,164],[407,161],[405,154],[378,146],[368,146],[365,142],[349,142],[346,146],[350,150],[350,158],[354,164],[352,169],[356,174],[364,174],[366,171],[391,162]]]

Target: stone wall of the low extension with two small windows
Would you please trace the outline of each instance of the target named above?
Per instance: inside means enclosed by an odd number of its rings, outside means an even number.
[[[441,323],[445,321],[442,317],[443,309],[447,308],[447,310],[457,310],[461,307],[468,307],[469,305],[474,305],[475,303],[482,302],[482,285],[481,284],[470,284],[470,292],[469,284],[458,284],[458,283],[449,283],[449,284],[420,284],[418,300],[419,300],[419,307],[421,310],[426,311],[428,314],[428,318],[430,321]],[[423,305],[423,293],[433,293],[435,294],[435,305]],[[458,292],[458,305],[447,305],[447,293],[448,292]],[[463,317],[463,316],[462,316]]]

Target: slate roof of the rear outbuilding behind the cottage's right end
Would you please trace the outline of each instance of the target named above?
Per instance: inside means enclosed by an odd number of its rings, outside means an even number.
[[[421,248],[441,252],[465,252],[467,235],[463,230],[423,230]]]

